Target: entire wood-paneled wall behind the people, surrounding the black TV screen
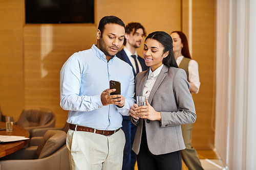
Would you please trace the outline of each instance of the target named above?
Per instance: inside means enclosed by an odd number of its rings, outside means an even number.
[[[5,0],[0,3],[0,104],[4,114],[14,119],[23,108],[47,107],[56,114],[56,126],[66,121],[68,111],[59,106],[59,71],[63,63],[77,51],[96,43],[96,30],[105,15],[116,15],[124,23],[142,23],[147,34],[170,33],[188,29],[188,3],[183,1],[95,1],[95,24],[25,25],[24,2]],[[193,58],[199,63],[201,88],[194,95],[197,122],[193,140],[197,149],[212,149],[214,128],[215,84],[215,1],[194,0]],[[183,11],[181,15],[181,11]],[[187,13],[187,14],[186,14]],[[2,19],[3,18],[3,19]],[[182,28],[181,28],[182,26]],[[138,49],[141,55],[142,47]],[[201,142],[198,142],[201,141]]]

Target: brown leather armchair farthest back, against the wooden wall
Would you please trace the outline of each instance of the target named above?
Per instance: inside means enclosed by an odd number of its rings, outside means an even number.
[[[37,128],[55,127],[55,114],[47,108],[34,108],[23,110],[16,125],[29,131]]]

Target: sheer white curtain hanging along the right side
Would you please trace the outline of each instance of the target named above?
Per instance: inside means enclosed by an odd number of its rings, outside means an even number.
[[[256,167],[255,30],[255,0],[217,0],[215,145],[227,169]]]

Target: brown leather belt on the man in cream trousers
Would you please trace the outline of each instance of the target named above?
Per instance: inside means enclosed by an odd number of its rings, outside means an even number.
[[[117,131],[120,130],[120,128],[118,128],[117,130],[114,131],[105,131],[105,130],[97,130],[97,129],[93,129],[93,128],[88,128],[88,127],[84,127],[84,126],[77,126],[73,125],[73,124],[69,124],[69,129],[75,131],[84,131],[84,132],[92,132],[92,133],[97,133],[97,134],[101,134],[101,135],[105,135],[105,136],[109,136],[109,135],[113,135],[114,133],[116,133]]]

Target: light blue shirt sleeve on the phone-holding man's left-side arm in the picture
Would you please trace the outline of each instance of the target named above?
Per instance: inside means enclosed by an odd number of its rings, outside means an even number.
[[[60,71],[60,106],[64,110],[92,111],[102,107],[100,94],[79,95],[81,86],[80,62],[76,53]]]

